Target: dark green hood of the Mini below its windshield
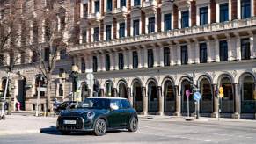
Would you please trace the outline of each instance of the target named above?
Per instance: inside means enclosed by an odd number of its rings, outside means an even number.
[[[61,112],[61,116],[84,116],[87,114],[87,112],[101,112],[100,110],[95,110],[95,109],[70,109],[70,110],[65,110]]]

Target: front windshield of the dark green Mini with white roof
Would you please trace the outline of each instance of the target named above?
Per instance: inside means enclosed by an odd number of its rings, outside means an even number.
[[[84,109],[109,109],[109,100],[101,98],[87,98],[77,105],[77,108]]]

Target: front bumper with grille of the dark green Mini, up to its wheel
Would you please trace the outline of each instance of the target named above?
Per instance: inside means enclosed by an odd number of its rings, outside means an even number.
[[[64,120],[76,120],[76,124],[64,124]],[[57,119],[59,131],[93,131],[93,123],[90,119],[76,116],[61,116]]]

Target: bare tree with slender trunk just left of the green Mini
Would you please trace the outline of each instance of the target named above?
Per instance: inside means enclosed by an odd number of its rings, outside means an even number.
[[[53,72],[55,70],[56,62],[58,61],[62,51],[66,50],[67,43],[69,41],[69,32],[72,31],[72,15],[71,1],[64,1],[65,8],[59,6],[58,0],[47,1],[47,7],[43,8],[37,13],[37,21],[41,21],[42,24],[38,25],[42,29],[41,34],[36,32],[37,24],[33,26],[27,26],[32,28],[33,43],[28,46],[30,51],[39,60],[39,64],[35,64],[41,74],[45,78],[47,85],[47,113],[51,112],[52,105],[50,104],[51,97],[51,80]],[[37,10],[37,11],[39,11]],[[43,18],[43,20],[40,20]],[[29,21],[33,21],[30,19]],[[44,54],[44,56],[42,56]]]

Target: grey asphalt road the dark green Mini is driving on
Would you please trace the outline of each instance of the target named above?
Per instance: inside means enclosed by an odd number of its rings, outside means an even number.
[[[45,127],[46,129],[49,127]],[[51,129],[51,128],[49,128]],[[56,131],[0,136],[1,144],[28,143],[256,143],[256,122],[140,120],[136,133],[108,132],[96,137],[91,133],[60,135]]]

